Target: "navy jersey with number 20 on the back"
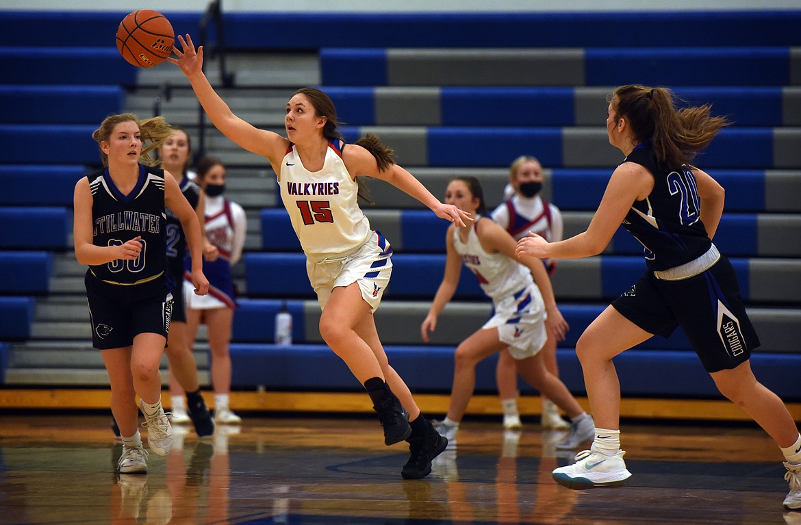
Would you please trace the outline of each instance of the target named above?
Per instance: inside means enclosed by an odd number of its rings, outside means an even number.
[[[634,201],[623,227],[645,246],[646,264],[662,271],[705,254],[712,242],[701,222],[701,200],[690,166],[666,166],[641,144],[623,162],[644,166],[654,176],[654,190]]]

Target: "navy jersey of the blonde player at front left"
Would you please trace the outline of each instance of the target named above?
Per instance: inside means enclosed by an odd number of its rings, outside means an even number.
[[[127,195],[117,189],[108,169],[87,178],[95,246],[122,245],[137,235],[142,237],[138,258],[92,266],[95,277],[112,284],[136,284],[163,274],[167,269],[163,170],[140,165],[139,181]]]

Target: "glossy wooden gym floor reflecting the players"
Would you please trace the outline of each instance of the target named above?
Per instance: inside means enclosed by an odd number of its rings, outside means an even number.
[[[560,433],[536,418],[513,433],[465,419],[456,451],[413,481],[372,416],[242,415],[212,439],[179,427],[147,475],[120,476],[107,411],[4,411],[0,524],[801,523],[783,511],[779,450],[751,423],[624,423],[629,486],[570,491],[550,477],[570,463]]]

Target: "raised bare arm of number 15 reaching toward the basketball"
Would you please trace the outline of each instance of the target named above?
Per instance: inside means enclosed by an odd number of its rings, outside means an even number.
[[[220,98],[203,74],[203,46],[195,50],[195,44],[188,34],[186,40],[179,34],[178,40],[181,43],[181,50],[177,46],[173,47],[178,58],[170,57],[167,61],[179,66],[183,74],[187,75],[192,90],[195,90],[195,96],[211,119],[211,123],[238,146],[267,157],[276,166],[276,163],[284,157],[289,141],[272,131],[260,130],[233,114],[231,108]]]

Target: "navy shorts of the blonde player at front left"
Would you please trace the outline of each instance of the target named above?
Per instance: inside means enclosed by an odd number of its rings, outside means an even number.
[[[139,334],[167,339],[172,294],[165,279],[135,286],[103,283],[90,272],[84,278],[92,327],[92,346],[98,350],[130,347]]]

